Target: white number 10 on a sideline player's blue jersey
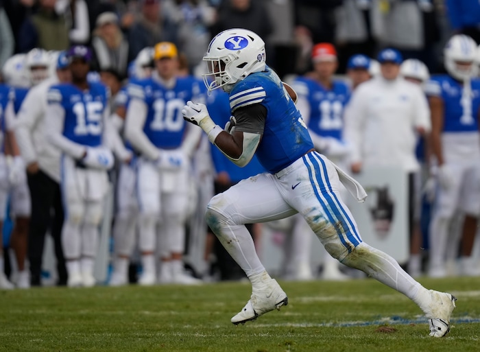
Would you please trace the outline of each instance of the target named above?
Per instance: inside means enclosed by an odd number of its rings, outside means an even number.
[[[150,128],[154,131],[167,130],[178,132],[184,126],[182,108],[185,102],[182,99],[156,99],[153,104],[154,119]]]

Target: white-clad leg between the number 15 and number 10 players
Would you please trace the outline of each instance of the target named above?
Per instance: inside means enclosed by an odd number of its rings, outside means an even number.
[[[123,163],[120,167],[117,183],[117,211],[113,224],[113,272],[110,285],[128,283],[128,264],[135,240],[135,227],[138,217],[136,198],[136,170]]]

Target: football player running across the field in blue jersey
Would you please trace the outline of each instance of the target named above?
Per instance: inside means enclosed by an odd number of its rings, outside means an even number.
[[[316,152],[302,115],[278,75],[265,64],[265,43],[254,32],[231,29],[208,45],[208,90],[230,93],[235,128],[213,123],[204,104],[188,102],[184,119],[197,124],[228,158],[247,164],[254,153],[269,173],[243,180],[213,197],[206,221],[252,283],[252,296],[232,317],[235,325],[287,305],[287,294],[259,260],[244,224],[301,213],[328,253],[411,298],[426,314],[430,335],[449,331],[455,297],[427,290],[389,255],[362,242],[339,194],[340,183],[359,201],[361,185]],[[232,119],[233,122],[233,119]],[[230,133],[229,133],[230,132]]]

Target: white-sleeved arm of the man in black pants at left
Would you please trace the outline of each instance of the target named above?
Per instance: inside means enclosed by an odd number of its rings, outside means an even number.
[[[42,99],[42,97],[38,95],[37,92],[38,89],[32,89],[27,93],[19,113],[16,115],[16,124],[14,127],[14,133],[16,141],[19,144],[21,156],[27,165],[36,163],[37,161],[32,131],[36,128],[38,119],[41,113],[43,113],[43,108],[40,108],[40,104],[38,104],[39,99]],[[44,91],[44,93],[46,92]],[[45,95],[43,99],[45,101]],[[44,105],[42,104],[42,106]]]

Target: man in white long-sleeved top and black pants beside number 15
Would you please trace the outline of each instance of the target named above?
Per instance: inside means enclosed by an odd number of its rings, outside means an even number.
[[[27,165],[27,179],[32,199],[28,234],[30,282],[41,285],[45,234],[50,226],[57,260],[58,285],[67,285],[67,269],[62,249],[63,207],[60,194],[60,152],[45,135],[47,91],[53,84],[70,82],[66,52],[56,56],[53,76],[30,89],[22,103],[15,126],[16,140]],[[53,214],[52,215],[52,211]]]

